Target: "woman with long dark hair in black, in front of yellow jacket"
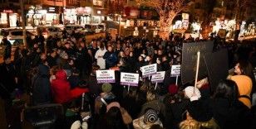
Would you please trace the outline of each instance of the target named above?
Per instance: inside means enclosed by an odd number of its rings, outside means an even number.
[[[220,128],[249,128],[249,108],[239,101],[239,88],[232,80],[220,81],[216,87],[212,109]]]

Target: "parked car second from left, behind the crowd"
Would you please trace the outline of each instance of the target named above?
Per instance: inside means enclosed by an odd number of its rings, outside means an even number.
[[[37,34],[42,33],[44,38],[48,36],[62,36],[62,29],[57,26],[37,26]]]

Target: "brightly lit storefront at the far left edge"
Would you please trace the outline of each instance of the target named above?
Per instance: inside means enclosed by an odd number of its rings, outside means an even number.
[[[19,25],[19,15],[13,12],[12,9],[3,9],[0,12],[0,26],[1,27],[16,27]]]

